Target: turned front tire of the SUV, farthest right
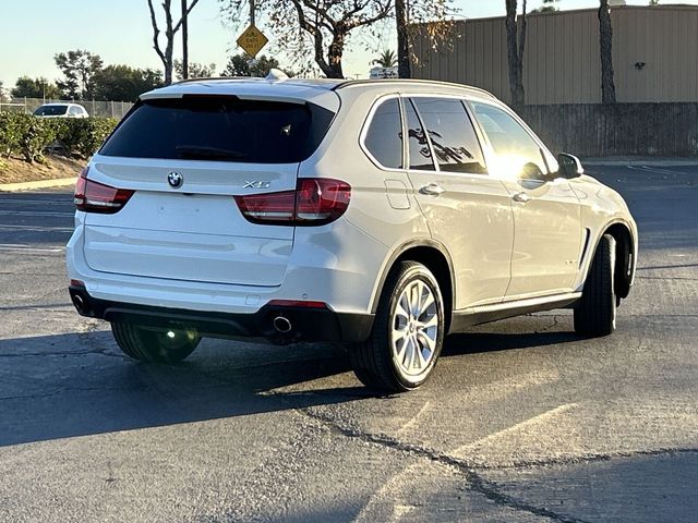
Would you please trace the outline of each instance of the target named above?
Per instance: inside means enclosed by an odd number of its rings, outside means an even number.
[[[575,332],[578,335],[601,337],[615,330],[614,271],[615,239],[604,234],[593,255],[581,300],[575,307]]]

